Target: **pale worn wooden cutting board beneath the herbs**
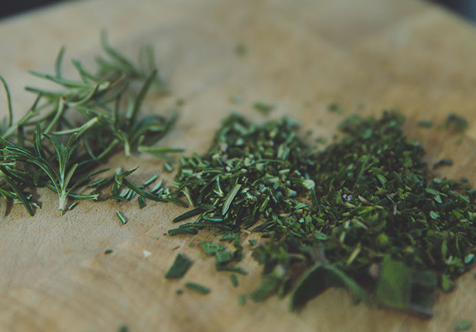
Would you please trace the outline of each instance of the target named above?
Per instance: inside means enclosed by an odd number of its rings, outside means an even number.
[[[331,102],[345,115],[398,108],[429,163],[453,158],[441,176],[476,180],[476,30],[441,8],[410,0],[72,1],[0,22],[0,73],[10,83],[17,119],[32,102],[23,86],[41,84],[26,70],[51,72],[62,45],[67,56],[92,62],[102,28],[130,56],[143,43],[156,48],[172,93],[151,95],[146,111],[167,113],[176,99],[185,99],[164,145],[204,152],[230,110],[262,121],[251,107],[257,100],[276,105],[271,117],[298,119],[313,137],[331,137],[344,117],[326,110]],[[245,45],[246,54],[237,55],[237,45]],[[232,95],[245,102],[231,104]],[[5,105],[3,94],[0,99]],[[6,113],[6,106],[0,109]],[[444,121],[448,112],[469,121],[460,144],[455,134],[415,124]],[[140,165],[136,180],[152,174],[171,179],[148,156],[119,154],[110,165]],[[43,209],[34,217],[21,206],[5,211],[1,205],[0,331],[117,331],[122,324],[132,332],[453,331],[475,316],[474,272],[451,294],[440,294],[431,320],[353,305],[342,289],[330,289],[299,312],[290,313],[287,299],[276,296],[240,307],[239,294],[261,279],[249,246],[241,263],[248,276],[239,276],[235,288],[228,273],[215,272],[213,259],[189,247],[213,239],[211,233],[163,236],[185,209],[80,202],[58,217],[54,195],[38,190],[38,197]],[[128,224],[119,224],[116,210]],[[105,255],[106,249],[114,252]],[[152,255],[145,258],[143,250]],[[178,252],[193,265],[182,280],[165,280]],[[176,294],[185,281],[212,292]]]

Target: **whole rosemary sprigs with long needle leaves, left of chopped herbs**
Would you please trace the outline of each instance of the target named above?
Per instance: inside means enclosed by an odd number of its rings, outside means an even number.
[[[109,169],[95,169],[119,150],[126,156],[146,152],[169,162],[174,160],[167,153],[182,151],[155,145],[174,126],[176,115],[140,112],[151,87],[158,93],[167,91],[158,76],[153,49],[143,47],[139,64],[134,64],[109,45],[106,33],[102,34],[102,46],[106,58],[97,58],[97,73],[72,60],[78,78],[65,78],[64,48],[58,54],[53,74],[30,71],[58,88],[27,86],[36,99],[18,121],[13,120],[10,92],[0,76],[8,100],[8,116],[0,123],[0,195],[7,202],[20,202],[30,215],[40,207],[32,195],[36,187],[58,194],[60,213],[73,209],[77,202],[68,206],[71,200],[129,200],[138,194],[141,208],[146,198],[175,201],[161,185],[145,191],[155,178],[143,185],[132,184],[126,176],[134,169],[118,169],[112,176],[97,178]],[[110,195],[101,195],[100,190],[111,184]],[[117,216],[126,223],[120,212]]]

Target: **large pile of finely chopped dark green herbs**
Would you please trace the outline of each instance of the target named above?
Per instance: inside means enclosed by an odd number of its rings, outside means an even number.
[[[372,292],[377,303],[430,313],[434,289],[450,290],[475,256],[476,191],[434,176],[402,123],[394,112],[351,116],[344,137],[316,151],[287,117],[257,125],[231,115],[209,152],[180,159],[172,195],[194,209],[174,222],[198,219],[170,234],[211,227],[239,243],[261,233],[252,250],[263,283],[252,300],[292,292],[294,309],[340,286],[356,300]]]

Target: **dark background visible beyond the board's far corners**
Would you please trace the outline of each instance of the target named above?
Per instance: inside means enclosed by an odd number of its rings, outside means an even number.
[[[52,3],[64,0],[0,0],[0,18],[33,10]],[[395,0],[398,1],[398,0]],[[475,0],[428,0],[440,3],[458,14],[473,22],[476,21],[476,1]]]

